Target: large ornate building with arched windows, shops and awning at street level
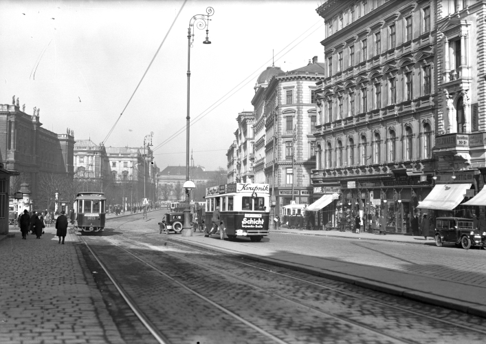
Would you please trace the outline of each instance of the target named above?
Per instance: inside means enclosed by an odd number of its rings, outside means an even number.
[[[384,217],[410,232],[410,216],[432,190],[437,118],[436,1],[337,1],[317,9],[326,23],[326,76],[319,82],[313,201],[317,217]]]

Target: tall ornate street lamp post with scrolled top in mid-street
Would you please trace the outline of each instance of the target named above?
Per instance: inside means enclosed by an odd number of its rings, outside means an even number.
[[[196,25],[199,30],[206,29],[206,41],[203,44],[211,44],[208,39],[209,33],[209,22],[214,14],[214,9],[212,7],[206,8],[206,14],[196,14],[189,20],[188,27],[188,53],[187,53],[187,116],[186,116],[186,182],[184,183],[184,188],[186,189],[186,208],[184,208],[184,225],[182,226],[181,235],[183,237],[192,237],[192,228],[190,226],[190,200],[189,200],[189,190],[195,188],[194,182],[189,180],[189,125],[190,125],[190,47],[194,42],[194,33],[192,28]]]

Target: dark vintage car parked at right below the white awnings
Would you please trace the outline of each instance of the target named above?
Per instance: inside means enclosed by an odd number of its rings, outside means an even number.
[[[474,228],[472,219],[463,217],[437,217],[435,225],[435,244],[456,244],[466,250],[471,246],[484,247],[486,232],[480,233]]]

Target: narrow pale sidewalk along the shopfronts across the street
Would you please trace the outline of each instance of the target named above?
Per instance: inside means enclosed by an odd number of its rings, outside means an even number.
[[[395,233],[388,233],[387,235],[378,235],[378,234],[371,234],[367,232],[361,231],[359,234],[346,230],[346,232],[340,232],[339,230],[298,230],[298,229],[290,229],[287,227],[281,227],[278,230],[270,230],[270,233],[289,233],[289,234],[300,234],[300,235],[319,235],[323,237],[345,237],[351,239],[366,239],[366,240],[379,240],[379,241],[395,241],[395,242],[405,242],[408,244],[426,244],[431,240],[434,240],[434,237],[428,237],[426,241],[421,236],[412,236],[412,235],[404,235],[404,234],[395,234]],[[433,233],[433,232],[432,232]]]

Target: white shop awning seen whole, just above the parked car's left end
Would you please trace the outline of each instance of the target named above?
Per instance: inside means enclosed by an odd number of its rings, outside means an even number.
[[[425,200],[417,208],[452,211],[464,200],[466,190],[471,184],[439,184],[434,186]]]

